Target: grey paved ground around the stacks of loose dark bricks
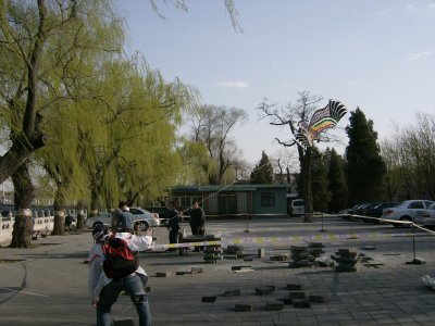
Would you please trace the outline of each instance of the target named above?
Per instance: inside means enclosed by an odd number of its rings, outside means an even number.
[[[324,231],[320,231],[324,229]],[[249,230],[249,233],[246,233]],[[411,229],[347,222],[338,217],[303,224],[300,218],[209,222],[209,234],[222,234],[225,241],[240,238],[287,237],[286,241],[252,241],[245,253],[265,249],[264,258],[252,261],[222,260],[204,264],[202,253],[147,252],[141,264],[150,275],[148,286],[153,325],[433,325],[435,291],[423,286],[421,277],[435,276],[435,238]],[[340,235],[340,236],[338,236]],[[167,233],[156,229],[158,243]],[[358,264],[355,273],[338,273],[334,267],[290,268],[288,261],[271,261],[271,255],[290,252],[290,246],[315,236],[326,254],[350,248],[365,254],[372,265]],[[289,238],[293,237],[293,238]],[[323,239],[320,239],[323,237]],[[358,239],[355,239],[357,238]],[[89,231],[69,236],[49,236],[34,242],[34,249],[0,249],[0,325],[94,325],[95,311],[87,298],[87,259],[91,246]],[[364,250],[371,246],[375,250]],[[407,264],[415,255],[424,265]],[[370,249],[370,248],[369,248]],[[15,261],[14,261],[15,260]],[[235,273],[232,266],[250,265],[253,271]],[[156,277],[157,272],[182,272],[202,267],[202,274]],[[288,296],[287,284],[303,284],[309,294],[318,293],[326,302],[310,308],[285,305],[266,311],[268,302]],[[271,286],[269,296],[256,294],[256,287]],[[225,297],[240,290],[238,297]],[[216,296],[214,303],[201,302],[203,296]],[[236,312],[235,305],[252,304],[252,312]],[[136,313],[127,297],[113,309],[117,318]]]

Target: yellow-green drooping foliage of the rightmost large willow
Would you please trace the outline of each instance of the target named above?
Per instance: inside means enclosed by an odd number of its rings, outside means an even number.
[[[129,80],[129,98],[117,105],[112,135],[121,149],[114,165],[121,195],[132,204],[153,200],[174,184],[183,163],[177,129],[197,91],[178,79],[166,82],[140,62]]]

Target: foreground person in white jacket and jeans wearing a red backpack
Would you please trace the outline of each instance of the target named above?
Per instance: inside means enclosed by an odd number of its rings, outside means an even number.
[[[133,229],[132,221],[129,218],[125,220],[125,216],[120,217],[120,224],[125,226],[126,229]],[[102,225],[98,225],[97,227],[104,228]],[[133,252],[138,252],[151,247],[152,237],[149,233],[150,230],[148,229],[146,235],[139,237],[128,231],[116,231],[114,237],[125,241]],[[90,255],[95,258],[89,259],[88,289],[91,296],[91,304],[97,309],[97,326],[112,325],[111,309],[122,290],[125,290],[130,297],[139,316],[139,325],[150,326],[151,312],[148,304],[148,296],[145,291],[145,286],[148,281],[147,273],[139,265],[134,273],[127,276],[109,278],[104,273],[102,259],[102,246],[109,233],[103,229],[95,229],[92,230],[92,235],[96,239],[96,244],[90,252]],[[98,255],[100,256],[99,259]]]

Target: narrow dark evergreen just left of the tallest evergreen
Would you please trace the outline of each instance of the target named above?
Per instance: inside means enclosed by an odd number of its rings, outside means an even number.
[[[344,160],[337,154],[335,149],[331,151],[330,171],[327,174],[328,190],[331,201],[328,204],[330,213],[337,213],[347,205],[348,189],[344,172]]]

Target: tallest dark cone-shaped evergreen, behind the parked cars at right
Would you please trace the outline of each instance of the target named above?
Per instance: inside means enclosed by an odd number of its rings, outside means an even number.
[[[357,108],[350,113],[346,127],[349,145],[346,148],[349,203],[380,200],[383,195],[385,162],[377,146],[373,122]]]

